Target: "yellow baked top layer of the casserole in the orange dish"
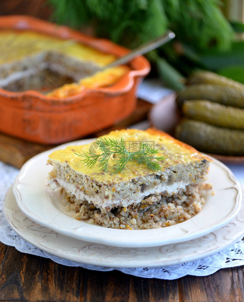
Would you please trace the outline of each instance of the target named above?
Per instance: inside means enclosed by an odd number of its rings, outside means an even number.
[[[31,31],[0,31],[0,64],[18,61],[26,56],[44,51],[54,51],[81,61],[92,62],[100,67],[108,65],[116,59],[111,54],[102,53],[73,40],[62,40]],[[106,69],[81,79],[79,83],[65,84],[54,89],[48,96],[65,98],[76,95],[86,88],[109,86],[129,70],[128,66]]]

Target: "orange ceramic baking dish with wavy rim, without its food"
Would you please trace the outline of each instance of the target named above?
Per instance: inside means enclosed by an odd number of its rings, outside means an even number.
[[[3,29],[73,39],[115,56],[129,51],[109,40],[27,16],[0,17],[0,30]],[[56,144],[109,127],[134,110],[136,88],[150,71],[150,64],[139,56],[130,62],[130,68],[111,86],[85,89],[69,98],[48,97],[34,90],[11,92],[0,88],[0,131],[32,142]]]

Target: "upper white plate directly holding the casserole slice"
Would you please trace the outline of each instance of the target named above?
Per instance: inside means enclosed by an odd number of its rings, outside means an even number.
[[[76,141],[55,149],[90,141]],[[120,247],[179,243],[217,230],[232,220],[240,209],[242,192],[238,181],[224,164],[213,159],[208,181],[213,184],[216,194],[207,198],[201,212],[183,223],[154,230],[117,230],[75,220],[61,211],[55,200],[46,194],[46,178],[52,169],[46,161],[53,150],[40,153],[23,165],[15,179],[13,192],[18,207],[27,217],[65,236]]]

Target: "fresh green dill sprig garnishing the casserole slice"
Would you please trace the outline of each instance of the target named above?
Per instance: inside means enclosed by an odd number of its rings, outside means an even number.
[[[159,161],[165,159],[164,156],[155,156],[159,150],[152,148],[147,142],[142,142],[139,145],[139,150],[135,152],[129,152],[125,148],[125,140],[115,140],[111,138],[99,138],[95,143],[97,148],[101,151],[100,154],[96,154],[89,150],[89,152],[75,153],[78,156],[83,157],[81,159],[85,166],[93,167],[98,162],[100,170],[107,172],[108,162],[111,155],[114,156],[116,164],[113,166],[114,171],[112,173],[121,173],[126,164],[131,161],[135,161],[138,164],[145,164],[148,169],[152,171],[160,170],[161,166]],[[118,159],[116,159],[118,158]]]

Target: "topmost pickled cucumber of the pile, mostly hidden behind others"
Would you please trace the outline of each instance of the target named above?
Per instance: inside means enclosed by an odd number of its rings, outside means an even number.
[[[240,90],[244,90],[244,85],[233,81],[232,79],[228,79],[225,76],[220,76],[214,72],[210,71],[198,71],[194,72],[189,78],[186,80],[187,84],[213,84],[220,86],[228,86]]]

